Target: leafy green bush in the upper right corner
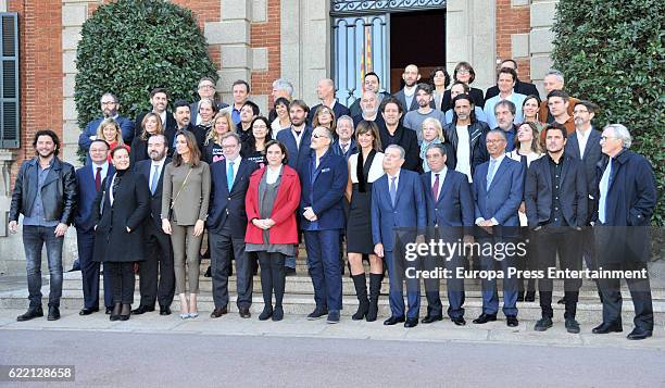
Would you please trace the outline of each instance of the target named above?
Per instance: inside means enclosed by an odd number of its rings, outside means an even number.
[[[647,157],[665,188],[665,30],[663,0],[561,0],[554,67],[572,96],[601,108],[594,126],[628,127],[631,150]],[[665,224],[662,196],[652,222]]]

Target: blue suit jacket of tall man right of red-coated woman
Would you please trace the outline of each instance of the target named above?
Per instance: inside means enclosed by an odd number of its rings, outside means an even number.
[[[302,160],[298,168],[302,185],[299,210],[300,228],[308,229],[311,226],[312,223],[302,213],[304,208],[312,206],[312,211],[318,218],[316,224],[319,230],[343,229],[346,224],[342,198],[349,179],[347,160],[328,150],[321,158],[318,167],[313,170],[314,158],[316,155],[312,152],[310,158]]]

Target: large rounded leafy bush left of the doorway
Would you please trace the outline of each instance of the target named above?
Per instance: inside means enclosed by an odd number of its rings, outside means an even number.
[[[83,26],[76,52],[78,125],[100,115],[99,99],[112,91],[121,115],[152,109],[150,90],[170,100],[192,100],[199,79],[217,79],[206,41],[191,11],[162,0],[118,0],[99,7]]]

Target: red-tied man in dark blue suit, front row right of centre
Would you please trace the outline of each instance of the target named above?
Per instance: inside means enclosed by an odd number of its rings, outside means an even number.
[[[443,145],[430,145],[427,148],[427,165],[430,172],[421,175],[425,203],[427,205],[427,227],[431,238],[450,243],[472,241],[474,226],[474,200],[466,175],[446,167],[447,151]],[[436,270],[444,266],[452,278],[446,284],[450,306],[448,315],[457,326],[466,325],[464,321],[464,278],[455,276],[457,268],[465,267],[465,258],[455,253],[451,258],[428,259],[429,267]],[[444,261],[444,262],[442,262]],[[439,297],[440,279],[425,279],[427,297],[427,316],[424,324],[441,321],[443,308]]]

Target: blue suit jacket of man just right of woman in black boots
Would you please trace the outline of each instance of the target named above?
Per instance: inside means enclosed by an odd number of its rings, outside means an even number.
[[[415,235],[427,226],[427,206],[417,173],[400,170],[396,202],[393,206],[388,175],[384,174],[372,184],[372,242],[382,243],[386,251],[394,248],[396,227],[413,228]]]

